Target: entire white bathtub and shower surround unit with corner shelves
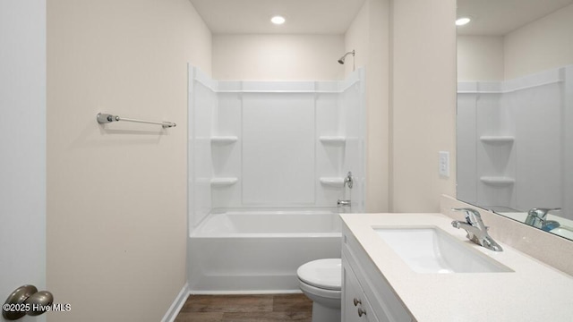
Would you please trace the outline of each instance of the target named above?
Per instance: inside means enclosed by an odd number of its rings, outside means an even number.
[[[321,217],[319,222],[332,225],[338,220],[332,214],[363,211],[363,70],[339,81],[217,81],[190,66],[189,77],[190,288],[192,292],[295,292],[295,267],[340,254],[338,225],[325,234],[323,228],[305,230],[305,221]],[[348,172],[353,174],[352,190],[344,185]],[[352,207],[337,209],[338,199],[352,200]],[[245,270],[240,264],[241,270],[227,269],[235,265],[226,265],[228,250],[219,246],[227,244],[230,249],[239,240],[229,244],[230,236],[220,233],[228,228],[222,226],[224,221],[212,238],[207,238],[204,227],[220,217],[215,214],[230,208],[235,214],[255,211],[266,223],[254,234],[249,229],[234,231],[234,239],[272,245],[272,250],[260,254],[235,247],[233,258],[264,257],[277,263],[286,258],[290,264],[270,270],[264,269],[266,265]],[[282,232],[287,222],[300,231]],[[295,251],[281,249],[290,244],[286,240],[295,239]],[[305,253],[310,249],[312,254]],[[221,267],[206,267],[205,258]],[[212,272],[220,271],[226,272],[227,283],[205,283]],[[262,278],[264,290],[256,283]],[[239,281],[240,289],[233,288]],[[193,285],[201,286],[193,290]]]

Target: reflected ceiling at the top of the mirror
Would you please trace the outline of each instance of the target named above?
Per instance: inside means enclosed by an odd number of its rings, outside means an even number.
[[[458,27],[461,35],[505,35],[572,4],[573,0],[458,0],[458,18],[472,21]]]

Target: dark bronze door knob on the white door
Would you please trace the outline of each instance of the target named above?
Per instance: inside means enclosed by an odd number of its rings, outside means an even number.
[[[38,316],[47,311],[47,306],[54,303],[51,292],[41,291],[34,285],[22,285],[12,292],[2,306],[2,316],[13,321],[26,314]]]

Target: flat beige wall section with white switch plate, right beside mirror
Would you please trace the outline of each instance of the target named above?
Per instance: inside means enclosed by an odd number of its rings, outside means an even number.
[[[456,2],[392,3],[391,198],[396,212],[439,211],[456,195]],[[449,151],[450,176],[438,174]]]

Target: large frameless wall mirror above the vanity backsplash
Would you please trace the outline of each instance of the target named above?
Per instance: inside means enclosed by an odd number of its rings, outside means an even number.
[[[461,17],[458,199],[573,240],[573,0],[458,0]]]

